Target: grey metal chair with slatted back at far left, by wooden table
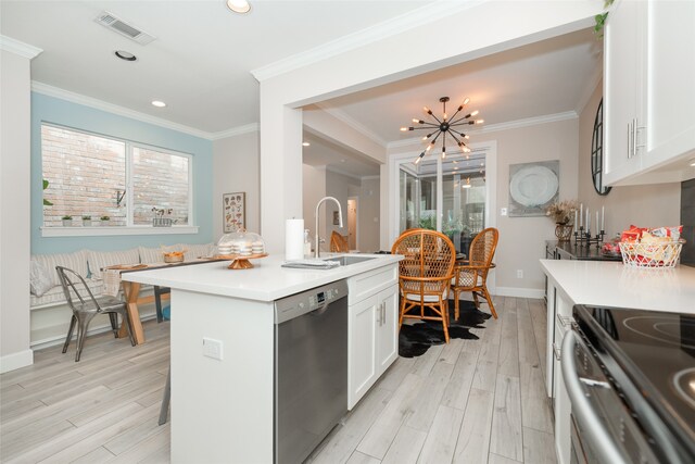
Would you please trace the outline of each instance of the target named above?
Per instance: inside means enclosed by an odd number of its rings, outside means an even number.
[[[75,271],[63,266],[55,266],[55,271],[58,272],[58,276],[61,280],[61,286],[63,287],[63,293],[65,294],[67,305],[73,310],[73,317],[70,321],[70,329],[67,330],[67,337],[65,337],[65,343],[63,344],[63,353],[67,351],[70,340],[73,338],[75,325],[77,325],[77,353],[75,354],[75,362],[79,361],[83,353],[83,347],[85,346],[85,336],[87,335],[89,323],[97,314],[109,314],[111,317],[111,328],[116,337],[118,337],[118,329],[116,327],[115,316],[116,314],[121,314],[126,328],[128,329],[130,344],[135,347],[132,327],[130,327],[130,318],[128,317],[125,302],[106,296],[94,298],[89,287],[87,287],[87,283],[84,277]]]

